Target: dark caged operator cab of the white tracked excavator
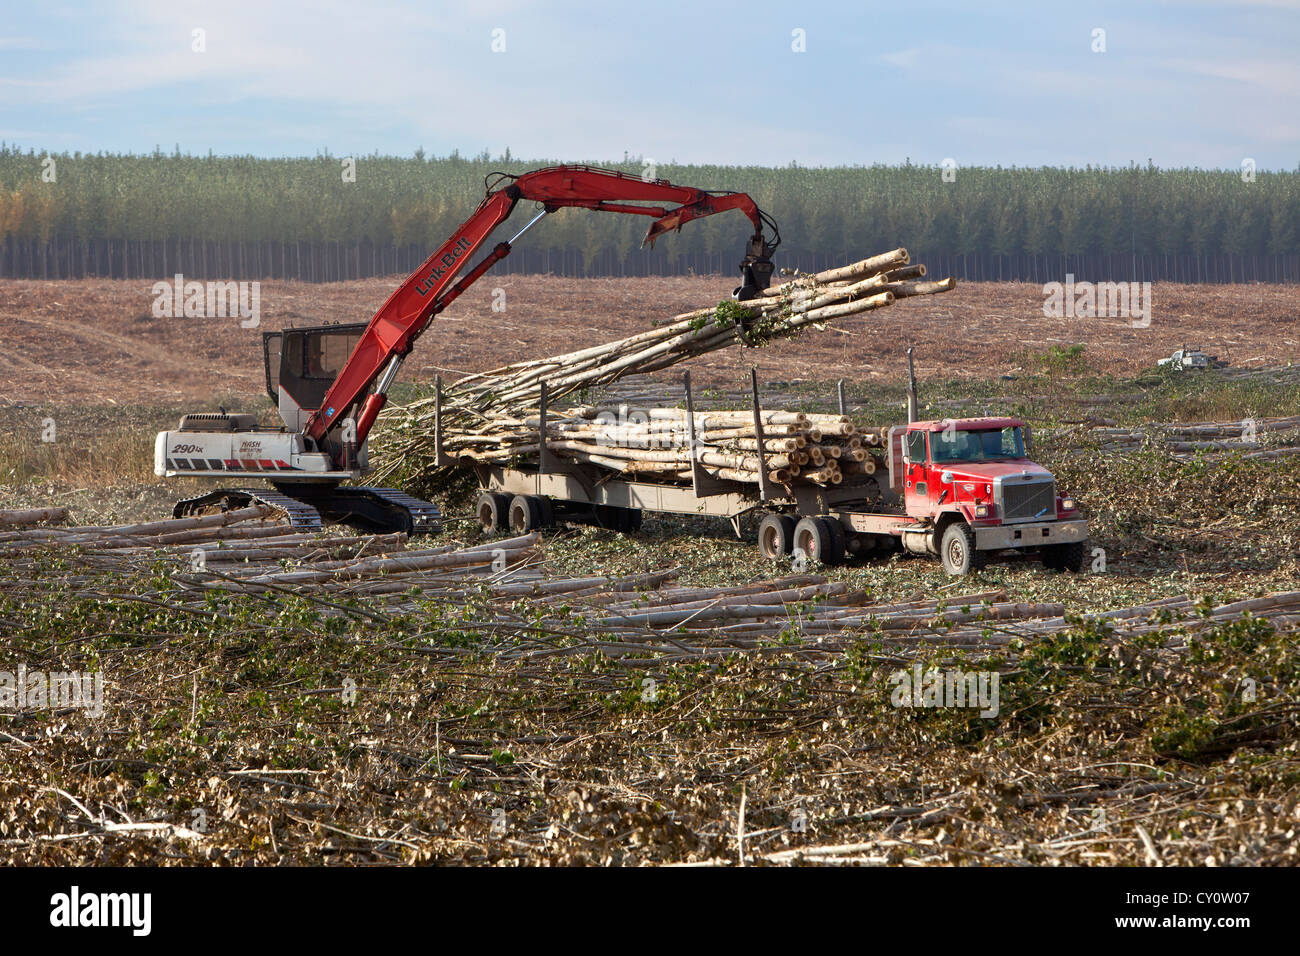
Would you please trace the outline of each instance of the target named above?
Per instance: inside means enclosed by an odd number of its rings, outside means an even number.
[[[368,323],[261,333],[266,394],[286,428],[303,429],[320,408]]]

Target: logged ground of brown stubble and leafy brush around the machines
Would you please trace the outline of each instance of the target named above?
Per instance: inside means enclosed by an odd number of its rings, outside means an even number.
[[[263,321],[364,317],[389,285],[264,284]],[[463,325],[421,343],[437,365],[428,359],[420,375],[627,334],[728,284],[500,285],[511,311],[494,315],[488,293],[468,294],[451,316]],[[126,282],[0,284],[9,346],[0,509],[68,505],[78,523],[116,523],[164,515],[187,492],[152,479],[152,432],[186,402],[252,393],[259,346],[233,321],[155,321],[147,293]],[[273,312],[290,294],[302,304]],[[528,311],[529,297],[545,304]],[[996,408],[1060,425],[1300,414],[1286,369],[1145,371],[1184,341],[1238,369],[1284,365],[1297,337],[1295,290],[1157,286],[1149,329],[1053,324],[1040,304],[1036,286],[959,286],[874,313],[870,332],[859,323],[853,334],[724,352],[708,367],[728,389],[757,360],[764,378],[784,382],[783,402],[810,410],[826,410],[835,378],[846,377],[855,415],[892,420],[901,349],[872,342],[897,343],[906,329],[935,415]],[[872,377],[876,388],[862,388]],[[53,442],[39,441],[47,419]],[[1000,589],[1061,602],[1069,615],[1300,589],[1295,458],[1112,455],[1056,437],[1040,441],[1037,458],[1086,503],[1105,570],[994,564],[954,583],[930,561],[894,555],[822,574],[880,604]],[[467,514],[463,498],[442,503],[452,519]],[[455,520],[448,535],[476,540]],[[829,661],[800,654],[789,635],[698,663],[614,659],[585,649],[599,635],[581,632],[581,601],[580,636],[530,631],[526,600],[506,631],[476,601],[419,596],[402,614],[364,598],[341,610],[311,592],[216,596],[194,613],[176,605],[181,584],[166,562],[124,576],[77,554],[22,561],[0,554],[0,670],[101,670],[109,710],[0,709],[5,862],[736,864],[741,845],[749,862],[774,864],[1297,861],[1296,620],[1216,627],[1173,659],[1157,649],[1180,632],[1178,620],[1153,620],[1164,631],[1124,645],[1082,620],[1050,640],[1027,635],[979,665],[1004,674],[1001,713],[984,721],[890,706],[885,678],[901,663],[963,662],[941,646],[885,653],[871,628]],[[723,524],[654,518],[633,536],[558,532],[541,567],[680,568],[680,583],[694,585],[789,572]],[[10,587],[20,570],[38,584]],[[552,650],[504,661],[486,650],[502,640]],[[653,701],[642,698],[646,679]],[[1252,701],[1242,696],[1247,679]],[[346,680],[358,688],[352,704],[338,693]],[[174,829],[121,829],[139,822]]]

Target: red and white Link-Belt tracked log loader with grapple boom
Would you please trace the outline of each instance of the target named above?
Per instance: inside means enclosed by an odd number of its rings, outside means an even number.
[[[547,213],[564,207],[651,216],[642,245],[686,222],[740,209],[754,226],[740,263],[740,300],[767,289],[776,224],[745,193],[675,186],[585,165],[559,165],[523,176],[493,173],[486,195],[455,234],[430,255],[380,307],[369,323],[291,328],[263,336],[266,394],[280,425],[257,415],[198,412],[177,431],[159,433],[153,471],[162,477],[264,479],[270,488],[221,488],[176,505],[177,518],[263,502],[289,514],[295,528],[315,531],[322,520],[368,531],[436,533],[441,514],[430,502],[387,488],[356,486],[368,470],[367,437],[389,388],[429,323]],[[476,265],[474,254],[520,202],[541,211]],[[670,208],[672,207],[672,208]],[[764,233],[767,230],[767,233]],[[458,278],[459,277],[459,278]]]

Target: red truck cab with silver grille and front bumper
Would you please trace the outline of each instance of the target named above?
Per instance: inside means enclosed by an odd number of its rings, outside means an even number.
[[[909,519],[904,546],[966,574],[1006,549],[1082,571],[1088,524],[1056,477],[1028,457],[1020,419],[913,421],[893,436],[892,484]]]

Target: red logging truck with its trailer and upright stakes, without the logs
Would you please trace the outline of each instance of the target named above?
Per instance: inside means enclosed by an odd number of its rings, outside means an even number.
[[[698,447],[689,372],[682,382],[690,447]],[[1071,497],[1058,494],[1053,475],[1028,458],[1030,429],[1020,419],[918,421],[913,375],[909,423],[889,429],[884,471],[852,476],[838,485],[781,485],[768,477],[762,462],[757,373],[751,373],[751,392],[754,454],[760,459],[757,488],[714,477],[696,457],[690,485],[623,480],[560,458],[546,445],[545,388],[536,470],[447,455],[441,402],[434,408],[436,457],[439,466],[474,470],[481,489],[478,520],[488,532],[523,533],[562,520],[632,532],[641,527],[642,512],[653,511],[727,518],[741,537],[742,518],[757,514],[762,515],[759,553],[774,561],[802,554],[840,564],[902,549],[939,557],[950,575],[976,571],[994,554],[1035,557],[1050,570],[1083,571],[1088,523]],[[838,401],[842,415],[842,384]]]

